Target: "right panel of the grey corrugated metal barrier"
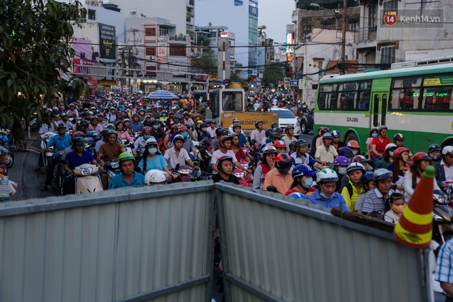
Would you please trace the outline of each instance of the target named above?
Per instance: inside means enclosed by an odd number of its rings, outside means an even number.
[[[300,199],[215,187],[227,301],[429,301],[426,251]]]

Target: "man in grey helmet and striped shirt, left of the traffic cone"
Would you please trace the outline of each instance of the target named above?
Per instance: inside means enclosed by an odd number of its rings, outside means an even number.
[[[376,188],[365,193],[361,209],[364,215],[373,211],[385,213],[390,210],[390,196],[394,193],[394,190],[392,190],[392,173],[387,169],[377,169],[373,174],[373,180],[376,183]]]

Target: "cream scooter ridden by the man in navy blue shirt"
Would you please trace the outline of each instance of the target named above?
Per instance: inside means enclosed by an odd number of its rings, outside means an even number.
[[[83,164],[74,168],[75,195],[102,191],[98,165]]]

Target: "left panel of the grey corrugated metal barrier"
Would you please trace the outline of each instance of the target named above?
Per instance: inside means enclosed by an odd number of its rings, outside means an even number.
[[[0,301],[208,301],[213,184],[0,206]]]

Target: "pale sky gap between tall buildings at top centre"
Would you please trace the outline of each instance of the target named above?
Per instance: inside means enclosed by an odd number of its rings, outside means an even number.
[[[291,24],[294,0],[258,0],[258,25],[266,25],[268,38],[277,43],[286,41],[286,24]]]

